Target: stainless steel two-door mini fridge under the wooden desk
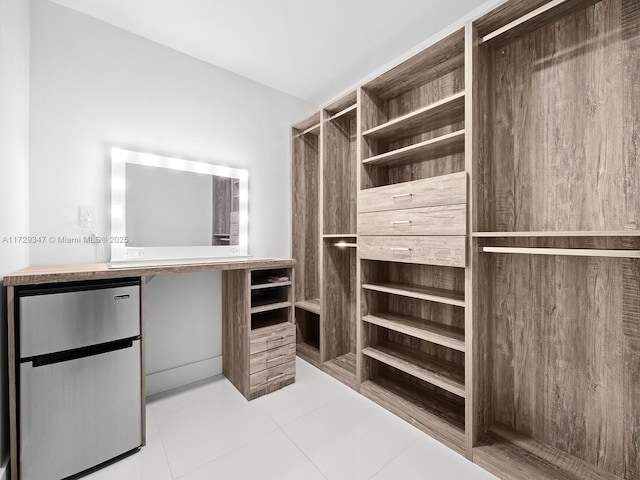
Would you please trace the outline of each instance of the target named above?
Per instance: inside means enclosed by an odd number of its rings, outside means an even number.
[[[59,480],[142,442],[138,279],[18,292],[21,480]]]

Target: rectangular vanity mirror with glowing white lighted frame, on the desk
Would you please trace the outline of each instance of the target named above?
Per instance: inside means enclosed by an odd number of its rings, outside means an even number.
[[[248,255],[248,178],[239,170],[111,150],[110,266]]]

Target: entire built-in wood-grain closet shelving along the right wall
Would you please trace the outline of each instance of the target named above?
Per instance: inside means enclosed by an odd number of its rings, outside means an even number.
[[[640,2],[507,0],[298,124],[316,366],[505,480],[640,478],[638,99]]]

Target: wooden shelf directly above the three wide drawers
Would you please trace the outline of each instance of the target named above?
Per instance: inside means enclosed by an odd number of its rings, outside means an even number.
[[[362,161],[363,165],[399,165],[403,163],[423,162],[435,160],[447,155],[464,151],[464,130],[458,130],[447,135],[432,138],[408,147],[392,150],[369,157]]]

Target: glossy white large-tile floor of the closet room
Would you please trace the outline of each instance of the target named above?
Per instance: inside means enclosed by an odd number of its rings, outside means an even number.
[[[222,376],[150,398],[147,446],[88,480],[495,480],[297,360],[296,383],[247,402]]]

